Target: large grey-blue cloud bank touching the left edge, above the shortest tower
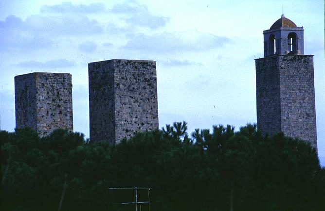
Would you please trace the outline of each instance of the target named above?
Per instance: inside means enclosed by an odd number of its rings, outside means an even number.
[[[49,49],[65,35],[93,35],[104,29],[85,15],[29,16],[25,21],[7,16],[0,21],[0,46],[5,50],[28,52]]]

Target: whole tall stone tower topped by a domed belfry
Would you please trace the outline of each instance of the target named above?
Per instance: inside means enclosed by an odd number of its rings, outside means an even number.
[[[264,58],[255,59],[257,128],[317,149],[313,55],[304,55],[304,29],[282,15],[263,34]]]

